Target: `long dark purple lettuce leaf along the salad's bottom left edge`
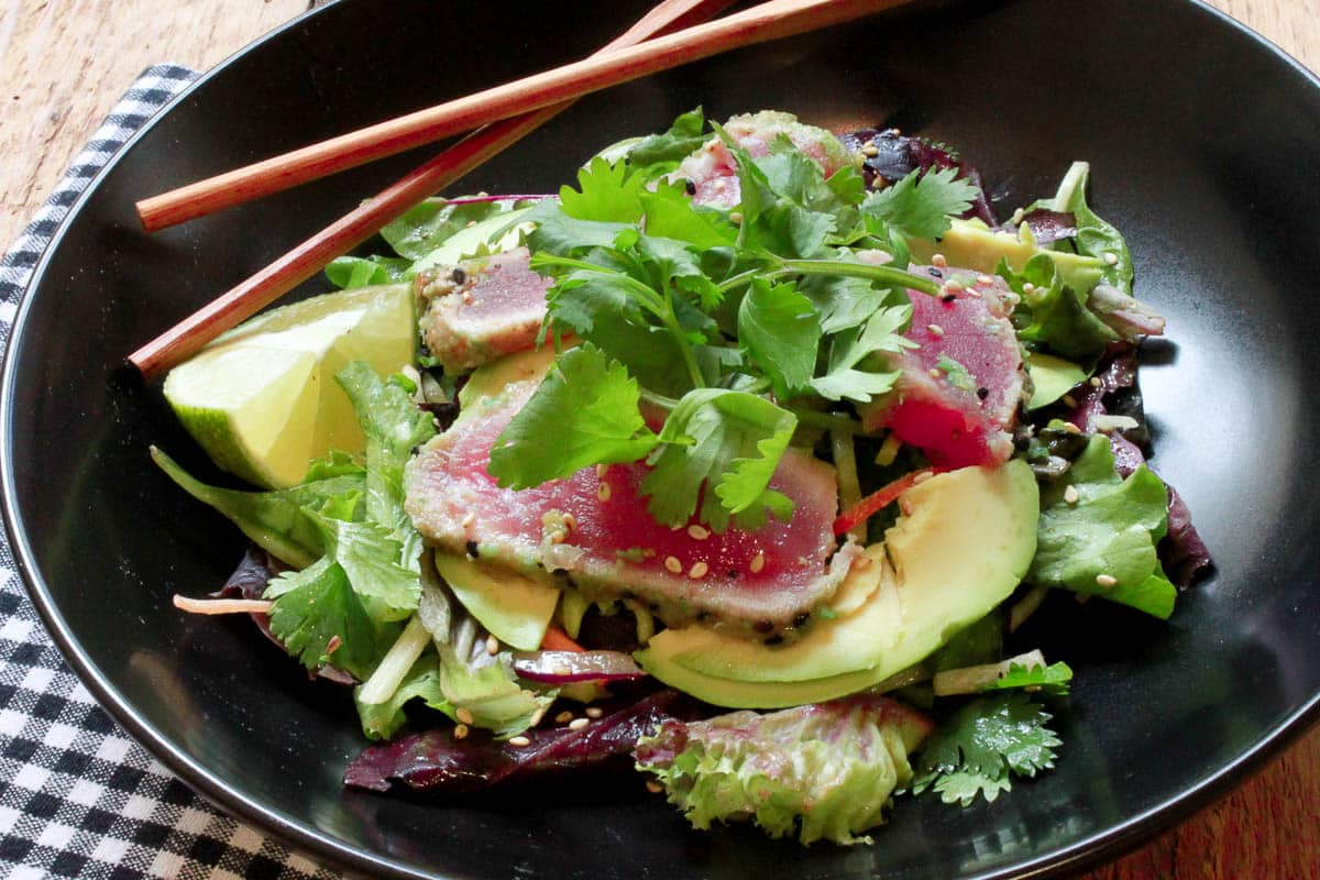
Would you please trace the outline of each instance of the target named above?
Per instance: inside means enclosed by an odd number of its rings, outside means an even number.
[[[533,728],[527,745],[494,740],[483,731],[454,739],[453,728],[401,736],[368,747],[345,772],[345,785],[385,792],[473,792],[511,780],[628,759],[638,740],[667,722],[697,716],[697,703],[675,690],[655,693],[591,722],[582,730]]]

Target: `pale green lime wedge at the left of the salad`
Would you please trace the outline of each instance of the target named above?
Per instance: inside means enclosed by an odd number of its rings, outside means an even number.
[[[335,373],[352,360],[396,372],[412,363],[416,335],[408,285],[327,293],[224,334],[170,371],[165,398],[222,468],[294,486],[312,459],[363,449]]]

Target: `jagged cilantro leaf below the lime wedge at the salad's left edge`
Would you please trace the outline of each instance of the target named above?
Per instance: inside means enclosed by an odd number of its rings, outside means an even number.
[[[304,666],[334,664],[359,681],[370,677],[379,654],[376,624],[330,557],[285,571],[265,595],[276,598],[271,632]]]

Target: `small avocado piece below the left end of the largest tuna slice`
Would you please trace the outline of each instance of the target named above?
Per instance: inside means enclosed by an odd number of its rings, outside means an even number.
[[[442,550],[436,550],[436,570],[492,636],[519,650],[541,646],[560,602],[558,590]]]

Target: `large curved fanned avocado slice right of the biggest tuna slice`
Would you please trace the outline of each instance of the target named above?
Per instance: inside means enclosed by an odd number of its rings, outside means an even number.
[[[892,571],[876,565],[879,586],[851,613],[774,646],[706,627],[667,629],[638,662],[709,703],[748,708],[842,697],[920,662],[1022,581],[1036,551],[1039,492],[1014,460],[941,474],[904,503],[909,513],[884,536]]]

